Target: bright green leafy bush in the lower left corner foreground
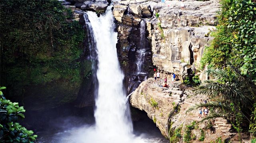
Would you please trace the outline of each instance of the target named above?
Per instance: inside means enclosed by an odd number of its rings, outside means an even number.
[[[5,87],[0,87],[0,90],[2,89]],[[16,123],[19,119],[24,119],[24,108],[19,107],[18,103],[7,100],[2,91],[0,97],[0,142],[33,143],[37,135]]]

